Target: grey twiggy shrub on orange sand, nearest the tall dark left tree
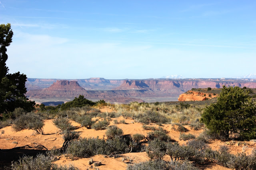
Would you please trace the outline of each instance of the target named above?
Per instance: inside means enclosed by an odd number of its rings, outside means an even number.
[[[37,134],[44,133],[44,122],[43,120],[34,113],[28,113],[26,115],[20,115],[14,120],[14,130],[21,131],[23,129],[32,129],[36,131]]]

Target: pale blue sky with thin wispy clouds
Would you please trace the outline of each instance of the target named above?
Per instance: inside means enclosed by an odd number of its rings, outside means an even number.
[[[256,1],[0,0],[9,72],[29,78],[256,74]]]

